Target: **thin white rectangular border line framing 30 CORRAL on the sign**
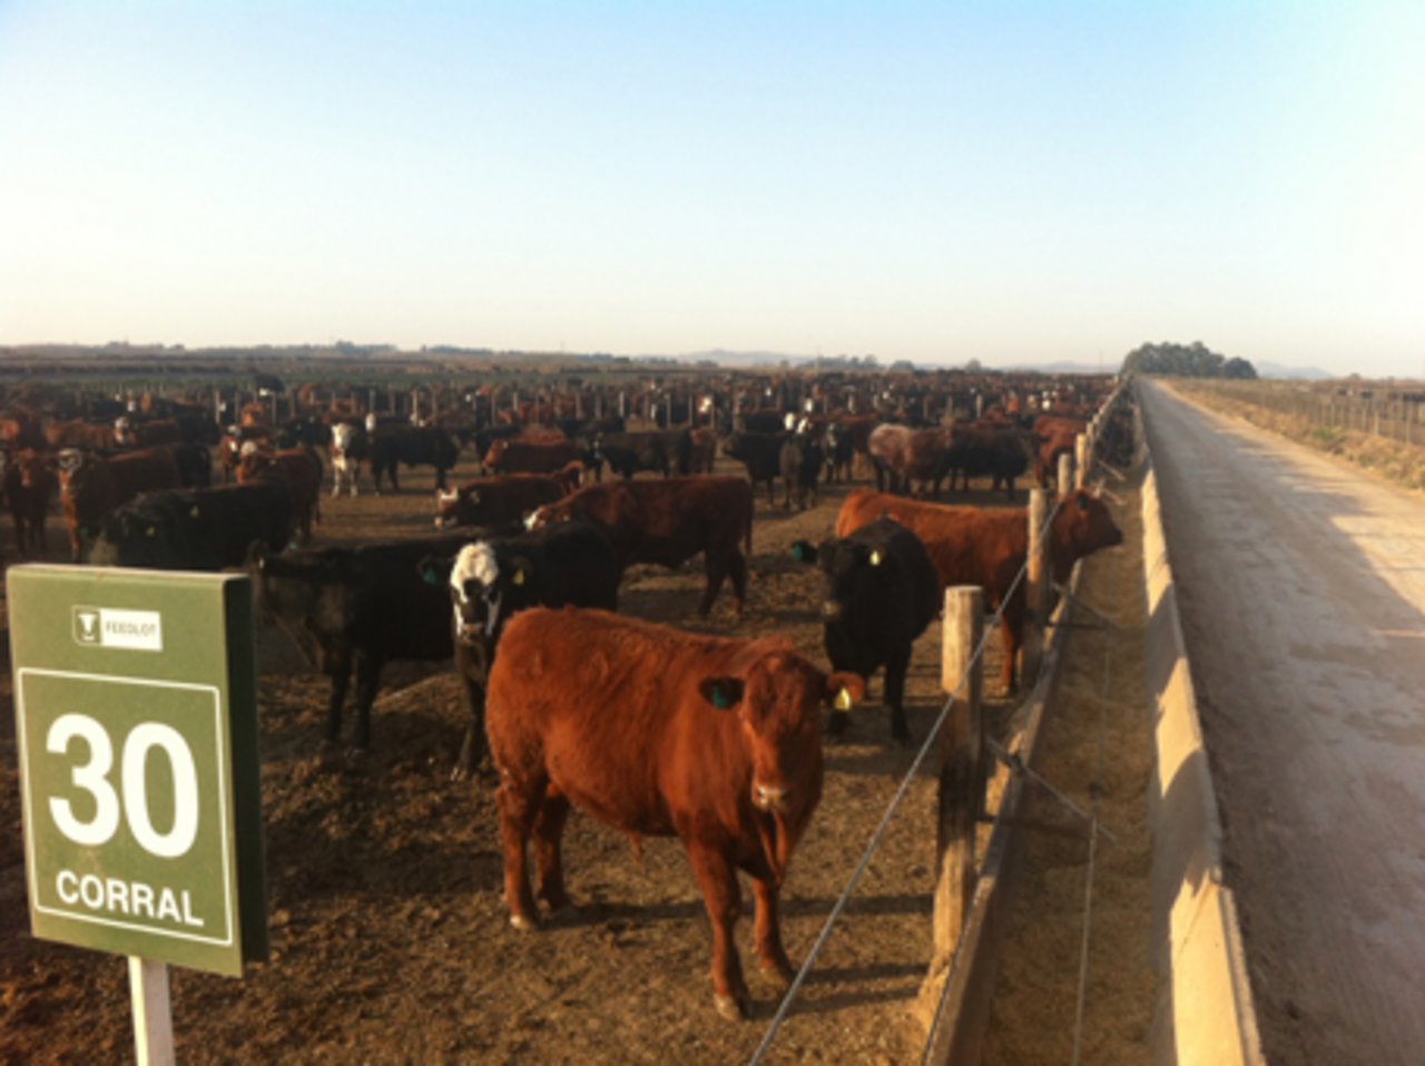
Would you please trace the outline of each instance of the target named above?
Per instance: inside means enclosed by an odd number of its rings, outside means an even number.
[[[131,932],[152,933],[154,936],[170,936],[178,941],[192,941],[197,943],[211,943],[222,948],[232,946],[234,929],[237,928],[235,915],[232,909],[232,862],[228,854],[228,845],[231,842],[231,822],[228,818],[228,780],[227,780],[227,752],[224,751],[225,737],[222,735],[222,693],[217,685],[211,684],[191,684],[187,681],[162,681],[158,678],[142,678],[142,677],[118,677],[114,674],[90,674],[80,670],[48,670],[44,667],[20,667],[16,671],[16,693],[14,703],[19,718],[19,744],[20,744],[20,765],[24,767],[24,835],[26,839],[34,841],[34,798],[30,795],[30,781],[33,778],[30,767],[30,752],[26,745],[26,705],[24,705],[24,677],[26,674],[36,674],[41,677],[68,677],[81,681],[98,681],[103,684],[128,684],[128,685],[142,685],[145,688],[184,688],[194,693],[207,693],[212,697],[212,718],[214,718],[214,735],[217,737],[217,755],[218,755],[218,817],[221,819],[221,837],[222,837],[222,901],[224,901],[224,923],[227,926],[227,936],[201,936],[198,933],[181,932],[178,929],[162,929],[151,925],[140,925],[137,922],[120,922],[113,918],[100,918],[97,915],[76,914],[71,911],[61,911],[54,906],[44,906],[40,902],[38,891],[38,859],[33,854],[34,848],[26,848],[26,865],[30,868],[30,899],[34,909],[40,914],[47,914],[54,918],[63,918],[73,922],[90,922],[93,925],[107,925],[115,929],[128,929]]]

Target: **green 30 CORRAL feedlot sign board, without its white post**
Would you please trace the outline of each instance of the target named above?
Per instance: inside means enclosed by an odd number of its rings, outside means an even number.
[[[34,935],[241,976],[266,958],[249,580],[16,566],[7,599]]]

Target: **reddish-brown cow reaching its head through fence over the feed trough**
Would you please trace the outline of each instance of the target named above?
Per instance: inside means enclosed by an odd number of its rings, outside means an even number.
[[[996,610],[1005,597],[1000,636],[1005,641],[1002,680],[1015,688],[1015,658],[1025,633],[1025,583],[1015,583],[1029,556],[1029,510],[1026,507],[950,507],[921,503],[903,496],[856,489],[846,496],[836,516],[836,536],[846,537],[876,519],[891,516],[925,543],[935,564],[940,594],[952,584],[978,584],[985,606]],[[1109,509],[1083,489],[1059,500],[1049,527],[1049,559],[1054,580],[1064,583],[1073,564],[1100,547],[1123,543]]]

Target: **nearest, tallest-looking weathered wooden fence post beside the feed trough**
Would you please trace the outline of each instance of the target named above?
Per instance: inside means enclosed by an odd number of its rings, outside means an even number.
[[[978,864],[975,829],[985,802],[985,750],[980,697],[985,691],[983,660],[975,658],[985,630],[985,591],[979,586],[945,590],[940,627],[940,684],[955,694],[940,734],[939,817],[935,832],[935,956],[931,975],[942,973],[955,958],[960,929],[975,898]],[[960,677],[965,684],[960,685]]]

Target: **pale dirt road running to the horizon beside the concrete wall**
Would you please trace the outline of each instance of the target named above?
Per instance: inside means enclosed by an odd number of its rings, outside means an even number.
[[[1425,503],[1141,390],[1263,1045],[1425,1053]]]

